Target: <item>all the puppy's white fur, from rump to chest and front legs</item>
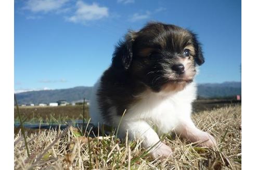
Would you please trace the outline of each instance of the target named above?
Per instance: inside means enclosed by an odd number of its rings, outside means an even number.
[[[97,90],[99,82],[94,86],[93,95],[90,105],[90,115],[92,122],[98,124],[109,124],[118,126],[121,116],[117,116],[117,106],[112,105],[109,113],[112,117],[111,122],[106,122],[101,115],[98,101]],[[188,84],[182,91],[176,93],[154,93],[144,92],[138,97],[134,104],[126,109],[122,118],[118,136],[124,138],[128,132],[129,139],[140,138],[144,148],[154,146],[150,151],[153,158],[159,155],[168,156],[172,150],[162,142],[159,143],[159,135],[175,131],[178,135],[188,140],[206,141],[201,146],[216,145],[214,138],[206,132],[198,130],[190,118],[191,102],[196,99],[196,84]],[[111,104],[111,99],[107,98],[106,102]],[[157,127],[157,132],[154,128]],[[159,144],[158,144],[159,143]],[[155,144],[158,144],[155,146]]]

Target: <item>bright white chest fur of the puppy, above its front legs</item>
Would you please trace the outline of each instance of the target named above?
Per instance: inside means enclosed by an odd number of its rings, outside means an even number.
[[[181,121],[190,121],[191,102],[196,98],[195,83],[183,91],[161,94],[145,92],[141,99],[127,109],[122,121],[144,120],[157,126],[158,133],[168,133]],[[116,121],[120,118],[117,117]]]

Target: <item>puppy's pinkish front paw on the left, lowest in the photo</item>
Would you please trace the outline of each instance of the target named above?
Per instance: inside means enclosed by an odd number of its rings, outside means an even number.
[[[172,149],[164,143],[160,143],[150,150],[150,154],[154,159],[159,157],[172,157]]]

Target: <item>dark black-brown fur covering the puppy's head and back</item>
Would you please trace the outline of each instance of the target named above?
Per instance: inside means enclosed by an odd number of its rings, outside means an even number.
[[[180,83],[180,75],[175,74],[172,79],[168,76],[175,72],[171,68],[179,64],[178,59],[186,58],[183,52],[188,45],[195,49],[190,60],[194,63],[191,72],[196,72],[195,65],[203,64],[204,58],[197,37],[191,31],[175,25],[149,23],[138,32],[129,32],[116,47],[112,65],[100,79],[98,102],[106,120],[111,121],[111,106],[122,115],[136,102],[134,96],[146,89],[159,92],[166,84]]]

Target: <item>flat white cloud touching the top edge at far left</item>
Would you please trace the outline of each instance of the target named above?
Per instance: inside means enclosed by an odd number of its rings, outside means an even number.
[[[58,10],[69,0],[29,0],[23,9],[32,12],[49,12]]]

